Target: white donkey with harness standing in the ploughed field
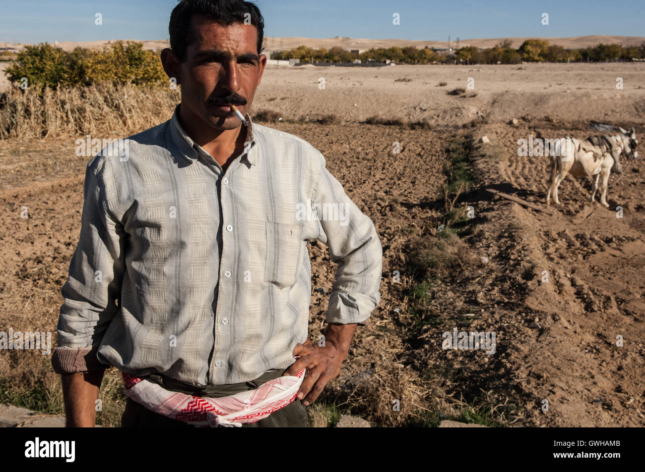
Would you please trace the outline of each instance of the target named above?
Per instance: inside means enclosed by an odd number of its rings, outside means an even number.
[[[636,146],[636,132],[632,127],[626,131],[619,127],[619,135],[590,137],[586,141],[575,138],[563,138],[559,153],[551,153],[551,178],[546,193],[546,204],[550,204],[551,194],[555,203],[558,199],[558,186],[567,174],[591,178],[591,202],[595,198],[600,178],[600,203],[609,208],[607,203],[607,184],[611,171],[622,174],[620,155],[636,159],[639,153]],[[595,179],[594,179],[595,176]]]

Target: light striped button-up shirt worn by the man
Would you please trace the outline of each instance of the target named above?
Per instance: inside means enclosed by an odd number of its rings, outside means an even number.
[[[317,149],[247,114],[224,172],[178,113],[88,164],[56,372],[111,364],[206,386],[290,366],[308,336],[307,240],[338,263],[328,323],[365,325],[380,301],[375,227]]]

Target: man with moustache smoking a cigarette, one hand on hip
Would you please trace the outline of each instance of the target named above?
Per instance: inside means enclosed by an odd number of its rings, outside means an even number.
[[[104,369],[223,397],[306,368],[297,400],[253,426],[306,426],[380,301],[381,243],[313,146],[253,124],[263,17],[241,0],[183,0],[161,60],[181,84],[163,124],[97,155],[63,286],[67,426],[94,426]],[[230,110],[236,105],[246,126]],[[307,240],[338,263],[324,343],[308,340]],[[294,357],[297,357],[294,362]],[[122,426],[188,426],[128,399]]]

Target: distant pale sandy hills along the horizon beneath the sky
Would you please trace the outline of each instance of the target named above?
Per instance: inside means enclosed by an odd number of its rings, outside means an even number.
[[[288,50],[297,48],[304,44],[310,48],[326,48],[330,49],[334,46],[340,46],[347,50],[370,50],[372,48],[390,48],[392,46],[399,46],[404,48],[406,46],[414,46],[415,48],[446,48],[448,41],[408,41],[406,39],[357,39],[336,36],[333,38],[304,38],[304,37],[265,37],[264,48],[266,51],[275,52],[280,50]],[[477,46],[478,48],[491,48],[495,44],[510,39],[513,48],[519,48],[522,42],[531,37],[521,38],[486,38],[486,39],[461,39],[459,46]],[[586,48],[588,46],[596,46],[600,42],[604,44],[622,44],[623,46],[639,46],[645,42],[643,36],[607,36],[607,35],[591,35],[591,36],[575,36],[569,38],[540,38],[546,39],[550,44],[557,44],[568,49]],[[52,41],[53,42],[53,41]],[[82,41],[71,42],[63,41],[58,45],[66,51],[73,50],[76,46],[84,48],[101,48],[108,46],[110,42],[114,41]],[[149,50],[162,50],[169,46],[168,41],[141,41],[145,49]],[[4,44],[0,42],[0,47]],[[23,48],[24,44],[6,43],[7,48]],[[456,41],[450,42],[450,47],[455,48]]]

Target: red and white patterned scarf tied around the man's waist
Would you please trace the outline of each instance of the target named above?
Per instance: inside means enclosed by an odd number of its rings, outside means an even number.
[[[284,375],[264,382],[255,390],[228,397],[194,397],[170,392],[150,379],[123,372],[123,393],[155,413],[195,426],[242,426],[268,417],[290,404],[303,383],[303,368],[297,375]]]

